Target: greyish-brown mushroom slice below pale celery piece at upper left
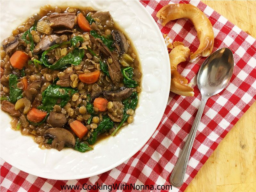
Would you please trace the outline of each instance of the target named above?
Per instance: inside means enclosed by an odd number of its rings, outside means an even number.
[[[57,35],[48,35],[41,39],[41,41],[35,46],[33,52],[39,54],[42,51],[49,49],[52,45],[56,44],[56,41],[60,41],[60,37]]]

